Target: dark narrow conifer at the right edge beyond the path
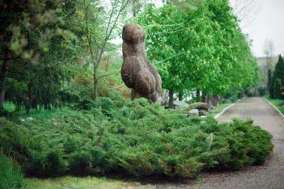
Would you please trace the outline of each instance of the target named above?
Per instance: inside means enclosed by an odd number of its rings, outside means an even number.
[[[281,94],[282,86],[284,86],[284,61],[280,55],[272,77],[272,98],[284,99],[284,96]]]

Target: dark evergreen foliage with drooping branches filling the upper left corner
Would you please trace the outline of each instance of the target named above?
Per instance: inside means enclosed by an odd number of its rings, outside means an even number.
[[[17,108],[60,107],[59,90],[67,81],[70,61],[63,11],[69,1],[1,1],[0,3],[0,108],[4,100]],[[68,7],[69,6],[69,7]],[[74,11],[73,11],[74,12]],[[74,50],[73,50],[74,52]],[[38,103],[40,102],[40,103]]]

